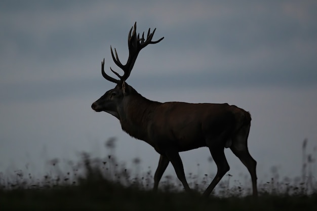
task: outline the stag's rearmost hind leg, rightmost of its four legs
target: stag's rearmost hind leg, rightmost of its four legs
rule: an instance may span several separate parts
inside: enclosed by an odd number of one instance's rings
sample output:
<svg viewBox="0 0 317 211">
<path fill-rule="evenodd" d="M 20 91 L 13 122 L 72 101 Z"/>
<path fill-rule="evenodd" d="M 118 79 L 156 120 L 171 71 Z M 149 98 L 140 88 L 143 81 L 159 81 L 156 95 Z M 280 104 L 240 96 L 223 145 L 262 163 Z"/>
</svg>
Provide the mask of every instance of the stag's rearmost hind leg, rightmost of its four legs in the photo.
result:
<svg viewBox="0 0 317 211">
<path fill-rule="evenodd" d="M 250 131 L 250 124 L 243 126 L 236 135 L 232 138 L 231 151 L 242 161 L 248 168 L 252 180 L 253 195 L 257 196 L 257 176 L 256 176 L 256 161 L 250 155 L 248 150 L 248 136 Z"/>
</svg>

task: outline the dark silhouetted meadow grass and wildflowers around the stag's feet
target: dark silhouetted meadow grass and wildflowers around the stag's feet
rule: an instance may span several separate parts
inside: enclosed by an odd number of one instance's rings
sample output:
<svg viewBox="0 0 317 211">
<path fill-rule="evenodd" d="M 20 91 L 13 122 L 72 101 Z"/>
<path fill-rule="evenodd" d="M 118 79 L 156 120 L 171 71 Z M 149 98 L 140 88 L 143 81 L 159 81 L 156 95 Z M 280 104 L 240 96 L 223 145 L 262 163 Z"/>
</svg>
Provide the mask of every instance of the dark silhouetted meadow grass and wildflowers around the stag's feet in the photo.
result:
<svg viewBox="0 0 317 211">
<path fill-rule="evenodd" d="M 109 149 L 115 146 L 111 142 L 106 144 Z M 242 185 L 230 187 L 230 175 L 222 179 L 209 198 L 201 197 L 210 183 L 207 175 L 201 182 L 194 175 L 187 177 L 194 187 L 190 194 L 183 191 L 177 178 L 170 176 L 154 193 L 150 169 L 132 177 L 113 155 L 100 159 L 82 153 L 77 163 L 68 162 L 66 172 L 60 169 L 58 159 L 50 160 L 52 171 L 40 179 L 22 171 L 0 174 L 0 210 L 317 210 L 317 183 L 311 174 L 314 160 L 306 154 L 306 144 L 304 140 L 302 177 L 279 181 L 273 175 L 269 182 L 258 185 L 257 198 Z M 137 167 L 140 160 L 133 162 Z"/>
</svg>

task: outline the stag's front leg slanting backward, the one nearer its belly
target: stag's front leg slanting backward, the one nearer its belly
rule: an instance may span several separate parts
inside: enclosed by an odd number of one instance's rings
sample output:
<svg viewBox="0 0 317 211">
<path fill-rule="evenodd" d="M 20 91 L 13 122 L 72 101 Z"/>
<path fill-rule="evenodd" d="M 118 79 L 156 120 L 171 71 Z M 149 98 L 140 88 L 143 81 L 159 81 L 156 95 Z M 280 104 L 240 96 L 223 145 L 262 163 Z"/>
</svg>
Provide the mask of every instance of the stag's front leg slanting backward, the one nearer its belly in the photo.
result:
<svg viewBox="0 0 317 211">
<path fill-rule="evenodd" d="M 179 156 L 179 153 L 177 151 L 168 151 L 166 152 L 166 156 L 171 161 L 176 172 L 177 178 L 182 182 L 185 190 L 190 191 L 190 188 L 185 178 L 183 162 Z"/>
</svg>

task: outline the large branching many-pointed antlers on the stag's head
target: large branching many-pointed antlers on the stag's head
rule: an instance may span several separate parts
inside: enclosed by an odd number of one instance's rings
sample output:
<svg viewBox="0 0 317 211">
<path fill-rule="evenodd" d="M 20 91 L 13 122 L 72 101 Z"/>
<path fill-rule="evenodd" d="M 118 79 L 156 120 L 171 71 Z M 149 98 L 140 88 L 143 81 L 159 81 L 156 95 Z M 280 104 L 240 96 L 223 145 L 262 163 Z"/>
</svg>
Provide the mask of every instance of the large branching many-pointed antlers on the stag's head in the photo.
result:
<svg viewBox="0 0 317 211">
<path fill-rule="evenodd" d="M 117 54 L 115 48 L 114 48 L 114 53 L 115 53 L 115 57 L 114 57 L 112 47 L 110 46 L 112 59 L 113 59 L 114 63 L 124 71 L 124 74 L 121 76 L 117 72 L 113 71 L 111 67 L 110 67 L 110 70 L 116 76 L 118 76 L 120 78 L 120 80 L 117 80 L 117 79 L 109 76 L 107 73 L 105 73 L 105 71 L 104 71 L 104 59 L 103 59 L 103 62 L 101 62 L 102 76 L 111 82 L 117 83 L 117 85 L 122 85 L 122 83 L 125 80 L 127 80 L 127 78 L 130 76 L 131 70 L 134 66 L 134 63 L 135 63 L 137 57 L 138 57 L 138 54 L 140 53 L 140 51 L 144 47 L 146 47 L 149 44 L 159 43 L 162 39 L 164 39 L 164 37 L 162 37 L 161 39 L 159 39 L 157 41 L 152 41 L 152 38 L 153 38 L 153 35 L 154 35 L 156 28 L 153 30 L 152 33 L 150 33 L 150 28 L 148 29 L 146 39 L 144 39 L 144 32 L 142 34 L 142 37 L 140 38 L 140 34 L 139 33 L 138 33 L 138 35 L 136 34 L 137 22 L 135 22 L 135 24 L 134 24 L 133 32 L 132 32 L 132 29 L 133 29 L 133 27 L 130 29 L 129 36 L 128 36 L 129 58 L 128 58 L 128 61 L 125 65 L 123 65 L 121 63 L 121 61 L 119 60 L 119 57 L 118 57 L 118 54 Z M 132 32 L 132 34 L 131 34 L 131 32 Z"/>
</svg>

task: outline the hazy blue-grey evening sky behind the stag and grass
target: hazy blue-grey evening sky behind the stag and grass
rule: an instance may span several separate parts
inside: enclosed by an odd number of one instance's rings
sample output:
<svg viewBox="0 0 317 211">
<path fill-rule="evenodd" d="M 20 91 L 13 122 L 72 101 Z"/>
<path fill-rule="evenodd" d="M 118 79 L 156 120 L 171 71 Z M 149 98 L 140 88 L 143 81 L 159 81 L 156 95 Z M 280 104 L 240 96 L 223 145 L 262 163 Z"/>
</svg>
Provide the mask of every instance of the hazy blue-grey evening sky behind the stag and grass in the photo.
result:
<svg viewBox="0 0 317 211">
<path fill-rule="evenodd" d="M 143 49 L 127 80 L 160 102 L 229 103 L 252 115 L 249 151 L 259 181 L 301 176 L 302 144 L 317 159 L 316 1 L 1 1 L 0 172 L 41 172 L 48 160 L 86 151 L 155 171 L 159 154 L 91 104 L 114 84 L 127 37 L 156 28 L 159 44 Z M 118 71 L 120 72 L 120 71 Z M 111 73 L 109 73 L 111 74 Z M 249 174 L 225 150 L 230 175 Z M 207 148 L 180 153 L 186 174 L 216 173 Z M 199 164 L 199 165 L 197 165 Z M 317 175 L 316 162 L 312 172 Z M 171 165 L 164 175 L 175 176 Z"/>
</svg>

